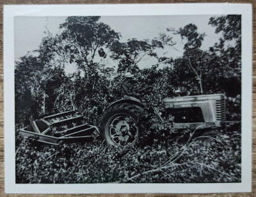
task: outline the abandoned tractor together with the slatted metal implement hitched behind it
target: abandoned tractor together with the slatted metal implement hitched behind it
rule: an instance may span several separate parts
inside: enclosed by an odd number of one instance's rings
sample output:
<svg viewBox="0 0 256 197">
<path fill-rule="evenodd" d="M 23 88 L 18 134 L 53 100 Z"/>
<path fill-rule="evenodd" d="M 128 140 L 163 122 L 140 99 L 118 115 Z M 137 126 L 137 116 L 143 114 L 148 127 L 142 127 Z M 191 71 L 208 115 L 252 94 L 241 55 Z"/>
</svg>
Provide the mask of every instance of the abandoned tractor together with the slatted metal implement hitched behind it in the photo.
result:
<svg viewBox="0 0 256 197">
<path fill-rule="evenodd" d="M 68 111 L 32 121 L 19 132 L 26 138 L 58 145 L 61 141 L 90 141 L 101 134 L 108 145 L 133 146 L 143 132 L 152 127 L 169 132 L 185 129 L 221 129 L 225 124 L 223 94 L 150 99 L 151 88 L 140 90 L 140 98 L 124 95 L 110 104 L 97 126 L 84 121 L 83 115 Z"/>
</svg>

